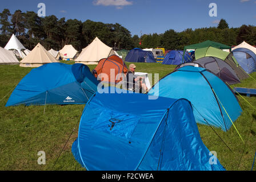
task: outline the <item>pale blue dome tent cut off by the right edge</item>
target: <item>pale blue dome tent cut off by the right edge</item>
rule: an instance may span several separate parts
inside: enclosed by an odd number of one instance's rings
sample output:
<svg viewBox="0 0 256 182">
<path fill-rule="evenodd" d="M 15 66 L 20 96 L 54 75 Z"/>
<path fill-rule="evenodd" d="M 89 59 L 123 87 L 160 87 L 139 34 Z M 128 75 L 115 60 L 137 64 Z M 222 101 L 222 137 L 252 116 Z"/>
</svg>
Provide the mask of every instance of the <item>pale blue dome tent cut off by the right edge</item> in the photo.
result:
<svg viewBox="0 0 256 182">
<path fill-rule="evenodd" d="M 237 48 L 232 52 L 238 64 L 246 73 L 250 74 L 256 71 L 256 55 L 253 51 L 247 48 Z"/>
</svg>

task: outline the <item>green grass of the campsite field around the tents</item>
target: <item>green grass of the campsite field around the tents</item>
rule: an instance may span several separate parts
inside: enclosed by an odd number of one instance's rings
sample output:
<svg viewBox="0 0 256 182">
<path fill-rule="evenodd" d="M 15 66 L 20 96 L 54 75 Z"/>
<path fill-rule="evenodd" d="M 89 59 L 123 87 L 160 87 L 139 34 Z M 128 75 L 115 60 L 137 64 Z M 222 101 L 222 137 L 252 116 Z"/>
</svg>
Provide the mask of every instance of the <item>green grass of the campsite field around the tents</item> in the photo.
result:
<svg viewBox="0 0 256 182">
<path fill-rule="evenodd" d="M 63 63 L 74 62 L 63 61 Z M 174 65 L 157 63 L 136 65 L 136 71 L 159 73 L 160 78 L 175 68 Z M 94 67 L 95 65 L 89 65 L 90 69 Z M 31 68 L 21 68 L 19 65 L 0 65 L 0 170 L 85 170 L 71 153 L 71 145 L 78 134 L 77 123 L 85 105 L 5 107 L 12 90 L 30 71 Z M 251 76 L 256 78 L 256 72 Z M 232 86 L 256 88 L 256 81 L 247 78 L 240 84 Z M 243 113 L 235 121 L 235 126 L 244 142 L 239 138 L 234 127 L 227 132 L 214 129 L 231 151 L 209 126 L 198 125 L 203 143 L 210 151 L 216 151 L 222 166 L 231 171 L 251 170 L 256 150 L 256 110 L 243 100 L 245 98 L 256 107 L 256 97 L 238 96 L 238 98 Z M 74 132 L 67 142 L 73 129 Z M 66 147 L 63 149 L 65 144 Z M 38 165 L 38 151 L 45 151 L 46 165 Z"/>
</svg>

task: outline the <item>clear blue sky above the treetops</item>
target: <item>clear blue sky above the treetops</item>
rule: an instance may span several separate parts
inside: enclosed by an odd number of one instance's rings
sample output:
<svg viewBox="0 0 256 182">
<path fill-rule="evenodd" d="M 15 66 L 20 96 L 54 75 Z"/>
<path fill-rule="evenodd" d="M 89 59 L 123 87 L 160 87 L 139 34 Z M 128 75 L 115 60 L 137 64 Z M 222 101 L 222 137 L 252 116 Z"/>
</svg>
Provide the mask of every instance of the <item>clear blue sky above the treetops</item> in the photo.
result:
<svg viewBox="0 0 256 182">
<path fill-rule="evenodd" d="M 38 3 L 45 3 L 46 16 L 87 19 L 103 23 L 119 23 L 132 35 L 164 33 L 174 29 L 217 26 L 226 19 L 230 27 L 242 24 L 256 26 L 256 0 L 12 0 L 1 1 L 0 11 L 7 8 L 37 11 Z M 217 17 L 209 16 L 210 3 L 217 4 Z"/>
</svg>

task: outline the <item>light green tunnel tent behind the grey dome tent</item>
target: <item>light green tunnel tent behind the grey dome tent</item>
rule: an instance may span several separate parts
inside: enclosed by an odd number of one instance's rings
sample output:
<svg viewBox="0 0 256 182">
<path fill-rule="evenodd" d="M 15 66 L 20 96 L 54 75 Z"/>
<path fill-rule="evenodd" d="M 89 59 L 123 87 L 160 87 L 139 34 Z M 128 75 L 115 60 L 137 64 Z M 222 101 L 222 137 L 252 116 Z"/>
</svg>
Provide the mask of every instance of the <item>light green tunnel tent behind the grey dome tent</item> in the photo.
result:
<svg viewBox="0 0 256 182">
<path fill-rule="evenodd" d="M 247 73 L 243 71 L 243 68 L 238 64 L 232 52 L 229 53 L 214 47 L 195 49 L 195 60 L 201 59 L 202 57 L 217 57 L 229 64 L 230 67 L 234 69 L 235 73 L 237 73 L 239 79 L 242 80 L 248 77 Z"/>
</svg>

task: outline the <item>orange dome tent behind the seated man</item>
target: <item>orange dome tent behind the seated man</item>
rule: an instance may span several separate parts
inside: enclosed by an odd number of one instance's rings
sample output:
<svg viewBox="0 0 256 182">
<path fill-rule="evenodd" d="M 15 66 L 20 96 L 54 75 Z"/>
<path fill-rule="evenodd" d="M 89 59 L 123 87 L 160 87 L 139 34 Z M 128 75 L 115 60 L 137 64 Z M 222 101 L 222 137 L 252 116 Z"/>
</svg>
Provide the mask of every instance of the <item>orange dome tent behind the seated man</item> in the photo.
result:
<svg viewBox="0 0 256 182">
<path fill-rule="evenodd" d="M 102 82 L 117 84 L 122 81 L 128 69 L 125 62 L 117 55 L 111 55 L 99 60 L 97 67 L 92 71 L 93 75 L 101 78 Z M 123 74 L 123 75 L 122 75 Z"/>
</svg>

